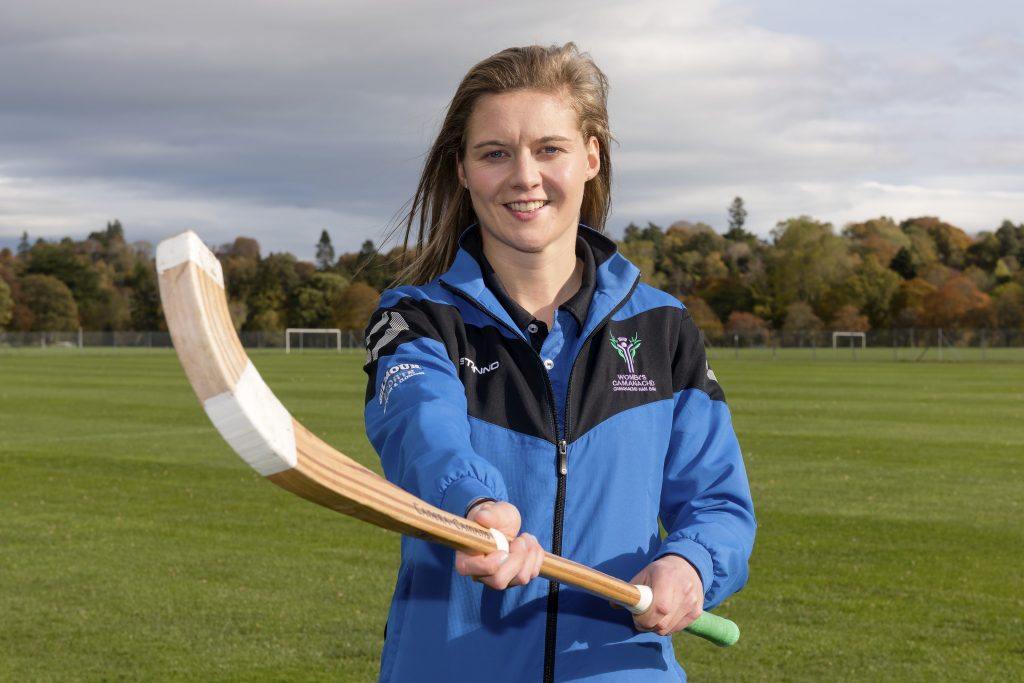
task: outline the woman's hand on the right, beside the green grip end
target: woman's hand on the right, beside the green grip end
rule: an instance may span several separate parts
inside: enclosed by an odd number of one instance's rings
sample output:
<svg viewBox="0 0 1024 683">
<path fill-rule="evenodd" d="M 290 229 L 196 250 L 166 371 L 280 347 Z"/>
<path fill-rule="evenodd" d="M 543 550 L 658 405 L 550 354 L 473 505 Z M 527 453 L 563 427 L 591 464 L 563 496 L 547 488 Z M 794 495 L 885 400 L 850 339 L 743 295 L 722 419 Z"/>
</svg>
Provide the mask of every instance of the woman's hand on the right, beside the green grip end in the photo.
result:
<svg viewBox="0 0 1024 683">
<path fill-rule="evenodd" d="M 657 558 L 630 583 L 649 586 L 654 594 L 650 608 L 633 615 L 638 631 L 669 636 L 688 627 L 703 611 L 700 574 L 679 555 Z"/>
</svg>

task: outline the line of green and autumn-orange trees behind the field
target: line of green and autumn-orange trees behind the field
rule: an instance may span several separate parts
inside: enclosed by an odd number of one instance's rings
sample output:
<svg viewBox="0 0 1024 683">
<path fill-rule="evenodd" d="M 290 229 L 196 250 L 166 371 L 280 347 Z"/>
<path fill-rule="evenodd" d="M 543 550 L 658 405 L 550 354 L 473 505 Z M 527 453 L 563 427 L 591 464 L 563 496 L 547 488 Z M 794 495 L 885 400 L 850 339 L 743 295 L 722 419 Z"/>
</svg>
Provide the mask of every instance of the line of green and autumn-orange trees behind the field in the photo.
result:
<svg viewBox="0 0 1024 683">
<path fill-rule="evenodd" d="M 618 241 L 643 280 L 680 298 L 710 338 L 810 337 L 821 330 L 1024 329 L 1024 223 L 971 236 L 936 217 L 881 217 L 841 230 L 808 216 L 768 239 L 745 229 L 736 198 L 729 227 L 631 223 Z M 166 329 L 148 243 L 120 221 L 82 241 L 0 251 L 0 330 Z M 400 270 L 400 248 L 367 241 L 336 256 L 327 230 L 315 262 L 261 254 L 251 238 L 215 249 L 240 331 L 361 330 Z"/>
</svg>

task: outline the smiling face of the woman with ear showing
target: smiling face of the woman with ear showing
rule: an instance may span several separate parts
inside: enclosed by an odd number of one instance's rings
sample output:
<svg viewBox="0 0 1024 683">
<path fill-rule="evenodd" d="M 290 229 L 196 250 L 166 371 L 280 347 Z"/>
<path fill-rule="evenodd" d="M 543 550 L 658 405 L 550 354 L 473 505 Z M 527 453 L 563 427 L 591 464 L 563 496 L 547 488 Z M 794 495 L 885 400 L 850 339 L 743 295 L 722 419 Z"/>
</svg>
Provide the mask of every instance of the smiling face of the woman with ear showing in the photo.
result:
<svg viewBox="0 0 1024 683">
<path fill-rule="evenodd" d="M 574 254 L 584 185 L 601 163 L 568 101 L 537 90 L 485 95 L 466 132 L 459 180 L 488 255 Z"/>
</svg>

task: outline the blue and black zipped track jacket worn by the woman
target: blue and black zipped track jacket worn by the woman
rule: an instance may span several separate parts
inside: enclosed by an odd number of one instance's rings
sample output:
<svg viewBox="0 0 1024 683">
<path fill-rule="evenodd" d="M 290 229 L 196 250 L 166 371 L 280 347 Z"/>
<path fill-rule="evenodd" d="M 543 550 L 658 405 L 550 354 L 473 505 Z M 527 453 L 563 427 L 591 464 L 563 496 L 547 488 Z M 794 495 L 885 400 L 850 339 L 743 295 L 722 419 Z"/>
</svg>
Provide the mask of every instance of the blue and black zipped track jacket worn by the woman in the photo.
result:
<svg viewBox="0 0 1024 683">
<path fill-rule="evenodd" d="M 368 435 L 409 492 L 457 515 L 509 501 L 546 550 L 611 575 L 686 558 L 712 608 L 744 584 L 755 531 L 724 395 L 679 301 L 607 238 L 579 236 L 584 287 L 546 335 L 496 291 L 476 227 L 447 272 L 385 292 L 367 328 Z M 625 609 L 543 579 L 486 589 L 452 550 L 403 537 L 380 679 L 685 675 L 672 639 Z"/>
</svg>

